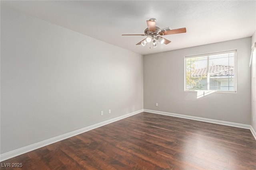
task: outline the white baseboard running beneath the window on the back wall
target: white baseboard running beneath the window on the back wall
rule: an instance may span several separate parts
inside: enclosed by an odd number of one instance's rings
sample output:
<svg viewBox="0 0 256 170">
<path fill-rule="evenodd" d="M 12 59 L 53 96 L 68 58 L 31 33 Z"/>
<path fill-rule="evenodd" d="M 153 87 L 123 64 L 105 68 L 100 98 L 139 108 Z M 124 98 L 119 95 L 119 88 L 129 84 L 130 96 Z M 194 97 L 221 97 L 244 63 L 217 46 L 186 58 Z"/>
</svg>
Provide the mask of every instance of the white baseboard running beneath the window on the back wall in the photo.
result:
<svg viewBox="0 0 256 170">
<path fill-rule="evenodd" d="M 169 112 L 149 110 L 149 109 L 144 109 L 144 111 L 149 112 L 149 113 L 156 113 L 156 114 L 161 114 L 161 115 L 168 115 L 168 116 L 174 116 L 174 117 L 181 117 L 181 118 L 185 118 L 185 119 L 192 119 L 192 120 L 197 120 L 197 121 L 216 123 L 216 124 L 220 124 L 220 125 L 228 125 L 228 126 L 240 127 L 240 128 L 244 128 L 244 129 L 251 129 L 251 125 L 245 125 L 245 124 L 241 124 L 241 123 L 233 123 L 233 122 L 228 122 L 228 121 L 207 119 L 207 118 L 202 118 L 202 117 L 181 115 L 181 114 L 176 114 L 176 113 L 169 113 Z"/>
</svg>

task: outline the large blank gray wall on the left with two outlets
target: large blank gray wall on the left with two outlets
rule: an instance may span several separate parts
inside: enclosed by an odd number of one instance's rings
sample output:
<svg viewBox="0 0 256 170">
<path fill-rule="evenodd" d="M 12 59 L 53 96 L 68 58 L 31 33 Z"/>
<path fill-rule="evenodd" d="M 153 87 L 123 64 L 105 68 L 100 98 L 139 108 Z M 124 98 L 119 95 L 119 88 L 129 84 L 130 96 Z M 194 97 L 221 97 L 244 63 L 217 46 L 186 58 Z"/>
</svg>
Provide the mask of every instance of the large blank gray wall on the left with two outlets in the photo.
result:
<svg viewBox="0 0 256 170">
<path fill-rule="evenodd" d="M 1 6 L 1 154 L 140 109 L 142 55 Z"/>
</svg>

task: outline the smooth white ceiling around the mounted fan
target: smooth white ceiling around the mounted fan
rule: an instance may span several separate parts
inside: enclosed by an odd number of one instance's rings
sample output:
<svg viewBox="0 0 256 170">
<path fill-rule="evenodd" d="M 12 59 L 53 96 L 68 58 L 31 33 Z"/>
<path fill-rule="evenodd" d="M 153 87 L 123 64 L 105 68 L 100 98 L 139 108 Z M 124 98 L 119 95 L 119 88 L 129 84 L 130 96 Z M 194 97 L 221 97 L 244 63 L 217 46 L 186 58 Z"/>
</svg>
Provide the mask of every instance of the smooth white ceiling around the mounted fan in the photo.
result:
<svg viewBox="0 0 256 170">
<path fill-rule="evenodd" d="M 256 30 L 256 1 L 2 1 L 30 16 L 146 55 L 220 41 L 250 37 Z M 135 45 L 144 37 L 146 20 L 156 18 L 160 28 L 186 27 L 187 32 L 166 35 L 172 43 L 156 48 Z"/>
</svg>

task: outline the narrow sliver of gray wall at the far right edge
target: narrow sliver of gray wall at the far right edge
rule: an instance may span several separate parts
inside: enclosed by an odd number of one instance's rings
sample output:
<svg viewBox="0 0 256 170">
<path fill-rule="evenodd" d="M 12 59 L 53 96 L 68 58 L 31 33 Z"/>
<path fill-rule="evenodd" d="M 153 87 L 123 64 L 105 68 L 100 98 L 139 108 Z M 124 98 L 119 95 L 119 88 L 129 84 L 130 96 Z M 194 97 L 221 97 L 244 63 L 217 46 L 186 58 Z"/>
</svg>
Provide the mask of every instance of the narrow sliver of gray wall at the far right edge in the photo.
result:
<svg viewBox="0 0 256 170">
<path fill-rule="evenodd" d="M 253 44 L 255 42 L 256 42 L 256 31 L 252 35 L 252 43 L 251 44 Z M 254 117 L 254 121 L 253 121 L 253 117 Z M 252 116 L 251 116 L 251 125 L 252 125 L 254 131 L 256 131 L 256 77 L 252 77 Z"/>
</svg>

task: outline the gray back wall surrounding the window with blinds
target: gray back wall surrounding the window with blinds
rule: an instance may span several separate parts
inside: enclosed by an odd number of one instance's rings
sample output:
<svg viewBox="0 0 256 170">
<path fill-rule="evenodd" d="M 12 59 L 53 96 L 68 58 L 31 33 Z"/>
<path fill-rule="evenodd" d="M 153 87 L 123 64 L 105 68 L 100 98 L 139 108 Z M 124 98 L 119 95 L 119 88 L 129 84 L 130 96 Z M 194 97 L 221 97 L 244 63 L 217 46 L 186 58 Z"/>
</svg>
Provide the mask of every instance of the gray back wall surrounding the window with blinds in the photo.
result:
<svg viewBox="0 0 256 170">
<path fill-rule="evenodd" d="M 215 92 L 197 98 L 197 92 L 184 91 L 184 56 L 234 49 L 237 49 L 237 93 Z M 144 109 L 250 125 L 250 55 L 251 37 L 145 55 Z"/>
</svg>

